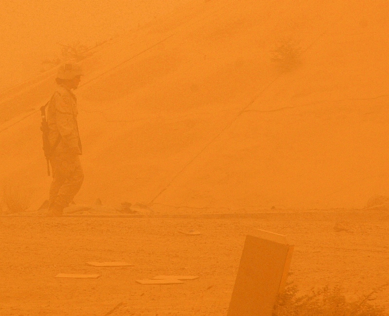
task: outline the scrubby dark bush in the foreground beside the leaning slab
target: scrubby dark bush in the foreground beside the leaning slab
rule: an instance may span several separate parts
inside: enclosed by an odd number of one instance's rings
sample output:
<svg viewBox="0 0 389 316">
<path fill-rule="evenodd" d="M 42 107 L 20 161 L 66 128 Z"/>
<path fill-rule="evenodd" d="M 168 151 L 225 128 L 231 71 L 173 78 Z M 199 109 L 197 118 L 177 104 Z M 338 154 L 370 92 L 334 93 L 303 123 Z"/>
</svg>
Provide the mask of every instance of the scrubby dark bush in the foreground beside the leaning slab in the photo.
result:
<svg viewBox="0 0 389 316">
<path fill-rule="evenodd" d="M 387 316 L 385 309 L 370 303 L 373 295 L 382 289 L 348 301 L 343 288 L 339 286 L 325 286 L 302 296 L 298 295 L 296 286 L 288 286 L 277 299 L 273 316 Z"/>
</svg>

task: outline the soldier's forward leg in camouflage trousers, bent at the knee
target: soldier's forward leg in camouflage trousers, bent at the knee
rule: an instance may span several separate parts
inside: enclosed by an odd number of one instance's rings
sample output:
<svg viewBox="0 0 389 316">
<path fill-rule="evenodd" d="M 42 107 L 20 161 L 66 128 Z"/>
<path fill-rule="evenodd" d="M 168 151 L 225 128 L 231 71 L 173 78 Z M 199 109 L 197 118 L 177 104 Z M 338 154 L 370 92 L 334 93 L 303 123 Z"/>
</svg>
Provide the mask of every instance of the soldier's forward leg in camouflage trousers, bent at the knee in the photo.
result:
<svg viewBox="0 0 389 316">
<path fill-rule="evenodd" d="M 66 172 L 66 180 L 60 187 L 54 203 L 65 208 L 80 190 L 84 181 L 84 172 L 78 155 L 67 156 L 62 162 L 62 167 Z"/>
</svg>

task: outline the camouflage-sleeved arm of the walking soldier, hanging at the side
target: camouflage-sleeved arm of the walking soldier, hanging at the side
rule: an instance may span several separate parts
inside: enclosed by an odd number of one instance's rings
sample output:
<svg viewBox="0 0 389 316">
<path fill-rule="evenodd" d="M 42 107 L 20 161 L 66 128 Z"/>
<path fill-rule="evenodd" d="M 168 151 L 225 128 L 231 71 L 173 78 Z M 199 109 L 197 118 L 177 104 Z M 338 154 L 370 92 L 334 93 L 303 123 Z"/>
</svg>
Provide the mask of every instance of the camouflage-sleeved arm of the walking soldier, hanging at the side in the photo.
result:
<svg viewBox="0 0 389 316">
<path fill-rule="evenodd" d="M 78 148 L 78 132 L 72 112 L 70 97 L 66 94 L 55 96 L 55 123 L 62 140 L 69 148 Z"/>
</svg>

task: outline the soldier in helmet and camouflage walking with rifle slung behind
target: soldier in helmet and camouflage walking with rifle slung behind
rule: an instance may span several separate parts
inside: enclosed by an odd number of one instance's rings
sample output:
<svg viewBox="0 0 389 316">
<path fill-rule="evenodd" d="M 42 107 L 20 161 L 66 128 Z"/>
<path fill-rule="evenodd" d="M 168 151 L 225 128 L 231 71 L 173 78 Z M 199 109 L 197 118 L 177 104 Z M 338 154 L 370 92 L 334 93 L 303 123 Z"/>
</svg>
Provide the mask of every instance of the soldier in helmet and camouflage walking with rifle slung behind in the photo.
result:
<svg viewBox="0 0 389 316">
<path fill-rule="evenodd" d="M 47 124 L 51 146 L 50 163 L 53 182 L 50 187 L 48 216 L 61 216 L 81 188 L 84 173 L 77 125 L 76 89 L 83 75 L 77 64 L 65 64 L 58 69 L 58 86 L 47 106 Z"/>
</svg>

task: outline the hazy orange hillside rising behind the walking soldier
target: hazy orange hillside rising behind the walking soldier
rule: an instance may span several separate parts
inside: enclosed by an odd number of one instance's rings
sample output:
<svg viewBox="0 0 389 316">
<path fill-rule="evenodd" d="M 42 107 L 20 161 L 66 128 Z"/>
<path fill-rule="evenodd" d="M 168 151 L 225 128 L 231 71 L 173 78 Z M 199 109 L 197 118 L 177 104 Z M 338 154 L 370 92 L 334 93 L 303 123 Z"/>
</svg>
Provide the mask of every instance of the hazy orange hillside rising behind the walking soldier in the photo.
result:
<svg viewBox="0 0 389 316">
<path fill-rule="evenodd" d="M 106 45 L 76 91 L 76 202 L 246 212 L 361 208 L 386 194 L 388 9 L 193 1 Z M 49 79 L 29 108 L 50 98 Z M 31 91 L 11 100 L 30 104 Z M 39 113 L 27 114 L 0 127 L 0 178 L 31 192 L 33 209 L 50 178 Z"/>
</svg>

